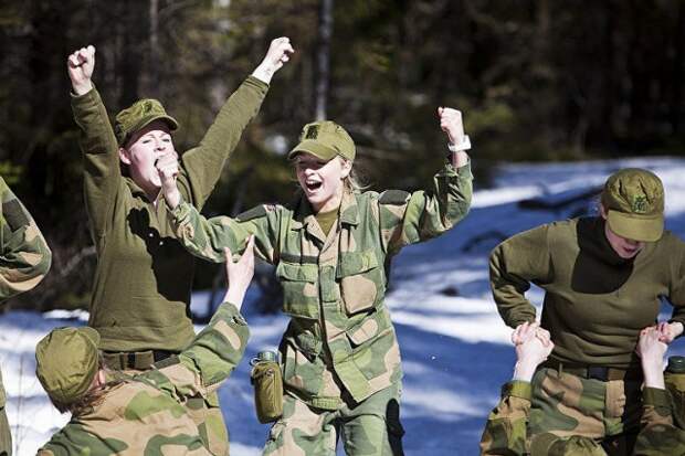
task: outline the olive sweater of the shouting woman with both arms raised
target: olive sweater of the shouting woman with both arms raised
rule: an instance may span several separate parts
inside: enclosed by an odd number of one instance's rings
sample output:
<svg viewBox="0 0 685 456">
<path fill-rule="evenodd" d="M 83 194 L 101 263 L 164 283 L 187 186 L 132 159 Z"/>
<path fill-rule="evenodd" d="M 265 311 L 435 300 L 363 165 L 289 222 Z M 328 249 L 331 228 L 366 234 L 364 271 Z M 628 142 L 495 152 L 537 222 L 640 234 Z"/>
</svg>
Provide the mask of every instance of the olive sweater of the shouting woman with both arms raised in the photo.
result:
<svg viewBox="0 0 685 456">
<path fill-rule="evenodd" d="M 250 76 L 226 100 L 200 145 L 180 160 L 178 187 L 200 209 L 268 86 Z M 103 350 L 180 351 L 193 337 L 190 289 L 192 255 L 179 244 L 161 197 L 148 201 L 123 177 L 107 112 L 93 89 L 72 98 L 81 128 L 89 229 L 97 251 L 88 325 Z"/>
</svg>

